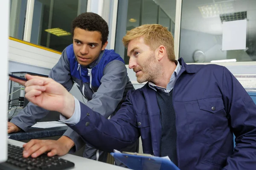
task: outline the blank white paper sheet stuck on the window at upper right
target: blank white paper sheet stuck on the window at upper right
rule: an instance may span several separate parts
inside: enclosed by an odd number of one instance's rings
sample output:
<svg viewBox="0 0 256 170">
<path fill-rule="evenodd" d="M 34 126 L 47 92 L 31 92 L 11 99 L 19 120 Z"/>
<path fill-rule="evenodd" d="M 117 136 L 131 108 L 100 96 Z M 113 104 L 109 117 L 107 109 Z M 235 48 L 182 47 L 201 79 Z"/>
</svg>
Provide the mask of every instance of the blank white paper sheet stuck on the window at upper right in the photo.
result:
<svg viewBox="0 0 256 170">
<path fill-rule="evenodd" d="M 222 24 L 222 50 L 246 49 L 247 20 L 227 21 Z"/>
</svg>

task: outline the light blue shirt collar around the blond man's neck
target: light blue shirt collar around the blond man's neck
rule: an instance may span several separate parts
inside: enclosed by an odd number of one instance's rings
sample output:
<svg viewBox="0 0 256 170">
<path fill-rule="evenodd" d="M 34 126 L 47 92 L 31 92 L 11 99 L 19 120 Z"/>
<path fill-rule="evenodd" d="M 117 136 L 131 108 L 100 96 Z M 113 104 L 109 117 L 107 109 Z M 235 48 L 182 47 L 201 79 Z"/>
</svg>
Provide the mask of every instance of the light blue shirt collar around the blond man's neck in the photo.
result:
<svg viewBox="0 0 256 170">
<path fill-rule="evenodd" d="M 169 94 L 169 93 L 172 91 L 173 87 L 174 87 L 174 82 L 175 82 L 175 79 L 177 78 L 177 75 L 178 75 L 179 72 L 180 72 L 180 69 L 181 69 L 181 65 L 180 65 L 180 63 L 178 62 L 178 63 L 177 63 L 177 67 L 175 68 L 175 71 L 172 73 L 172 76 L 171 76 L 170 81 L 169 81 L 169 83 L 167 84 L 167 87 L 166 87 L 166 88 L 157 86 L 157 85 L 155 85 L 153 82 L 148 82 L 149 87 L 152 88 L 152 89 L 154 89 L 155 91 L 160 90 L 160 91 L 162 91 L 162 92 L 164 92 L 164 93 Z"/>
</svg>

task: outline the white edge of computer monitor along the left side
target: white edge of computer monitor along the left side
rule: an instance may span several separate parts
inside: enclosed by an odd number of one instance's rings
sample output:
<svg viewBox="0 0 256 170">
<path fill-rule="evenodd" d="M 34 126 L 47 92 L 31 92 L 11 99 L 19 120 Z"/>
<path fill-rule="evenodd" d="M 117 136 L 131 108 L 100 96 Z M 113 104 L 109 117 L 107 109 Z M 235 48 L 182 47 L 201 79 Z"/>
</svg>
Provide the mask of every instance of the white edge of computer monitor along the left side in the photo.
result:
<svg viewBox="0 0 256 170">
<path fill-rule="evenodd" d="M 7 160 L 9 3 L 9 0 L 3 0 L 0 5 L 0 162 Z"/>
</svg>

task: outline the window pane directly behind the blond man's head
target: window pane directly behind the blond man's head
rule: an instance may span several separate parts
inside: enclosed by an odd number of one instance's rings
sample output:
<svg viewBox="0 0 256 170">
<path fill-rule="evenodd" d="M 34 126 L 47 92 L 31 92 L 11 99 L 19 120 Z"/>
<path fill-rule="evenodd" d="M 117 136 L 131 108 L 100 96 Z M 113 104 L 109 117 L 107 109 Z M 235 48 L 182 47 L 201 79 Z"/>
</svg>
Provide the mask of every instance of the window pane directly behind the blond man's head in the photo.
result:
<svg viewBox="0 0 256 170">
<path fill-rule="evenodd" d="M 126 31 L 143 24 L 161 24 L 174 34 L 176 0 L 122 0 L 118 3 L 115 51 L 128 64 L 127 49 L 122 45 Z M 126 31 L 124 30 L 126 29 Z"/>
</svg>

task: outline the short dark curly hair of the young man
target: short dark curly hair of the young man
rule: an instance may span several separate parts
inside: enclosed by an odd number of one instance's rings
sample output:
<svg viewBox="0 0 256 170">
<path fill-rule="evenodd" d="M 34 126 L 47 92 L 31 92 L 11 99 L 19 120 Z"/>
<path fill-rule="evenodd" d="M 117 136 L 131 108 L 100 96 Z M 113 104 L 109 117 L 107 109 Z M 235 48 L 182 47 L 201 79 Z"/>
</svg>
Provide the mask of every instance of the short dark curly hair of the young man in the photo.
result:
<svg viewBox="0 0 256 170">
<path fill-rule="evenodd" d="M 72 35 L 75 28 L 81 28 L 86 31 L 99 31 L 102 34 L 102 45 L 108 41 L 108 23 L 98 14 L 93 12 L 84 12 L 72 21 Z"/>
</svg>

